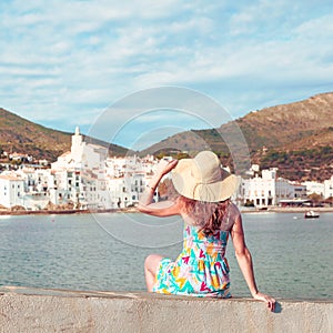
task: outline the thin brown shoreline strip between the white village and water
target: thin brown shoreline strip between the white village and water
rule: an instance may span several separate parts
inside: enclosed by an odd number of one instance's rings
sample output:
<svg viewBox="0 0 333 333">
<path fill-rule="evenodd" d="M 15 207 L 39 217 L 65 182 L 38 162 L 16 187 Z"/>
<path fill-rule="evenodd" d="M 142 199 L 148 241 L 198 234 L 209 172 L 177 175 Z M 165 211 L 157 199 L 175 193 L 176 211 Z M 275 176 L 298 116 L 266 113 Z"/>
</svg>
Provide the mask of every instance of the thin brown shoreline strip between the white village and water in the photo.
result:
<svg viewBox="0 0 333 333">
<path fill-rule="evenodd" d="M 269 208 L 266 210 L 260 209 L 240 209 L 242 214 L 248 213 L 305 213 L 309 210 L 319 213 L 333 213 L 333 206 L 319 206 L 319 208 Z M 39 211 L 10 211 L 0 210 L 0 216 L 4 215 L 60 215 L 60 214 L 103 214 L 103 213 L 139 213 L 135 208 L 125 209 L 109 209 L 109 210 L 39 210 Z"/>
</svg>

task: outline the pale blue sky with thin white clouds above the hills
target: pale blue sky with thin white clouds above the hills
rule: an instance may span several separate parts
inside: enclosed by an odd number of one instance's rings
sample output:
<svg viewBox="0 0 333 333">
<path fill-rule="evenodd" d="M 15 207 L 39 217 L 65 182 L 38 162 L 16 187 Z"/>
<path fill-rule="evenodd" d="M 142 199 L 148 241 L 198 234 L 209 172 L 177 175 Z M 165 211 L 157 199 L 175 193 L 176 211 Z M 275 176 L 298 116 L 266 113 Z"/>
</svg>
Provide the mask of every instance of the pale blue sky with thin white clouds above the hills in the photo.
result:
<svg viewBox="0 0 333 333">
<path fill-rule="evenodd" d="M 333 91 L 332 41 L 329 0 L 1 0 L 0 107 L 142 149 Z"/>
</svg>

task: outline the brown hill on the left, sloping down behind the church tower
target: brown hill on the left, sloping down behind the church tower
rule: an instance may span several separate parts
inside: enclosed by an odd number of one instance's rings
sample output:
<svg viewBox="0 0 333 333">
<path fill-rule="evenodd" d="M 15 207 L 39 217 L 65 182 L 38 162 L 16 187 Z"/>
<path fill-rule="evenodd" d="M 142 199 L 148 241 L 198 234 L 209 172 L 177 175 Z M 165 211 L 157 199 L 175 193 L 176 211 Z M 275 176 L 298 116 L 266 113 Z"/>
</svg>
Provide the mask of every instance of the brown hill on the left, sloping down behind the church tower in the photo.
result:
<svg viewBox="0 0 333 333">
<path fill-rule="evenodd" d="M 0 108 L 0 152 L 19 152 L 50 162 L 70 150 L 72 133 L 52 130 Z M 89 138 L 90 142 L 109 147 L 111 154 L 124 155 L 127 149 Z"/>
</svg>

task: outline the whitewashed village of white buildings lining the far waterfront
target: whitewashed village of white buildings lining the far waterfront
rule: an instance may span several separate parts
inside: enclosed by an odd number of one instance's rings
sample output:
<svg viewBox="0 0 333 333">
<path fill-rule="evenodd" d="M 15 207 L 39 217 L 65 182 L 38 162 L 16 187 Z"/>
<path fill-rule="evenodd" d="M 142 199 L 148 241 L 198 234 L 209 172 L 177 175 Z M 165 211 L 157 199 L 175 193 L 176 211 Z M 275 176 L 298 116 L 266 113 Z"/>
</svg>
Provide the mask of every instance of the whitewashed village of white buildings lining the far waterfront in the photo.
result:
<svg viewBox="0 0 333 333">
<path fill-rule="evenodd" d="M 19 158 L 13 155 L 12 158 Z M 168 158 L 167 158 L 168 159 Z M 118 210 L 134 208 L 159 160 L 108 155 L 108 148 L 84 142 L 79 128 L 71 150 L 46 168 L 22 164 L 0 173 L 0 210 Z M 333 175 L 323 183 L 295 183 L 278 176 L 278 169 L 252 165 L 233 200 L 239 206 L 270 209 L 309 205 L 309 195 L 333 198 Z M 155 193 L 155 200 L 160 193 Z"/>
</svg>

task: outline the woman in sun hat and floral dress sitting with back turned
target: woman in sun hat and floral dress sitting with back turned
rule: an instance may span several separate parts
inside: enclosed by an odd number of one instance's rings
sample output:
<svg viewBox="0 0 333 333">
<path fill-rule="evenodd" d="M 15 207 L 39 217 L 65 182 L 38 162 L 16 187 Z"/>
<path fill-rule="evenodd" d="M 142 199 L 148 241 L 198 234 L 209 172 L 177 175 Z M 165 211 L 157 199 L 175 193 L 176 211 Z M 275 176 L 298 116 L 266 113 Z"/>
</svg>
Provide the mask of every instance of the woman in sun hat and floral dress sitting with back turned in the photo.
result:
<svg viewBox="0 0 333 333">
<path fill-rule="evenodd" d="M 159 182 L 171 170 L 172 183 L 180 195 L 174 201 L 153 203 Z M 230 234 L 252 296 L 264 301 L 274 311 L 275 300 L 256 287 L 242 218 L 230 200 L 240 185 L 240 178 L 225 173 L 211 151 L 202 151 L 194 159 L 160 163 L 138 208 L 154 216 L 181 215 L 185 225 L 184 242 L 183 251 L 174 262 L 159 254 L 145 259 L 148 291 L 231 297 L 229 265 L 224 256 Z"/>
</svg>

